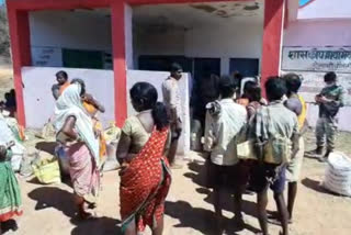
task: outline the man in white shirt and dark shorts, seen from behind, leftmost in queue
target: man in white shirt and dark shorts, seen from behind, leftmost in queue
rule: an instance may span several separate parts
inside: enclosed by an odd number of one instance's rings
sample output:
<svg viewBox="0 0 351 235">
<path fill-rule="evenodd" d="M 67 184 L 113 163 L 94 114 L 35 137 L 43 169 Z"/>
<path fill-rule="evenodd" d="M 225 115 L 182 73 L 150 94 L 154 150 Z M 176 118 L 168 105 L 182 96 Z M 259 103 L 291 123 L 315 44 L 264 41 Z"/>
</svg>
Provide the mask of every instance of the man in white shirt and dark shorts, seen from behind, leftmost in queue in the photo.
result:
<svg viewBox="0 0 351 235">
<path fill-rule="evenodd" d="M 233 100 L 236 87 L 230 77 L 219 79 L 220 100 L 207 104 L 205 125 L 205 150 L 208 159 L 208 187 L 214 189 L 216 233 L 222 234 L 222 193 L 235 193 L 235 222 L 244 226 L 241 197 L 248 181 L 237 157 L 237 138 L 247 124 L 246 109 Z"/>
</svg>

